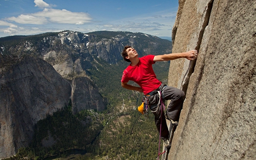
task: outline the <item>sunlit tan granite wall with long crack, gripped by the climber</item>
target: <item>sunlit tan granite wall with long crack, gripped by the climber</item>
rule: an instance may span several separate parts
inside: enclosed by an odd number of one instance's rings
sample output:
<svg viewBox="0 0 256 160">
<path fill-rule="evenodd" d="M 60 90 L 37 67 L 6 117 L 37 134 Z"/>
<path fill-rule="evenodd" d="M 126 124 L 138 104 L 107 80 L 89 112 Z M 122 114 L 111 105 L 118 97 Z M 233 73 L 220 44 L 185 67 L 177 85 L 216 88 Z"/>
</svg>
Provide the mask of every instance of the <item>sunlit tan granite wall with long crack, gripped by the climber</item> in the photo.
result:
<svg viewBox="0 0 256 160">
<path fill-rule="evenodd" d="M 256 1 L 180 0 L 168 84 L 186 92 L 166 159 L 256 159 Z"/>
</svg>

